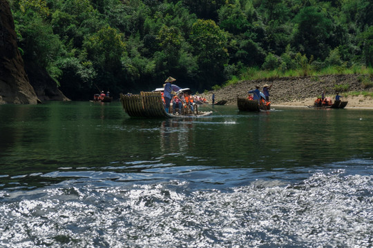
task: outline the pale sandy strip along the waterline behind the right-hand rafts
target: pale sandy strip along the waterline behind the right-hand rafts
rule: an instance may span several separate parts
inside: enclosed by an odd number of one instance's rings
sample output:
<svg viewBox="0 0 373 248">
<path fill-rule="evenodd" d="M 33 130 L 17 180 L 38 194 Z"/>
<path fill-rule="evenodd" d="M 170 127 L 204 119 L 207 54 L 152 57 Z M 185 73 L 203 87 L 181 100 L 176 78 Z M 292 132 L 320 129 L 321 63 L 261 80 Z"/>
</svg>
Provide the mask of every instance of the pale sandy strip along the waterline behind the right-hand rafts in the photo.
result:
<svg viewBox="0 0 373 248">
<path fill-rule="evenodd" d="M 329 96 L 327 96 L 329 97 Z M 334 97 L 330 96 L 332 98 L 332 101 L 334 101 Z M 302 101 L 300 100 L 294 100 L 289 102 L 280 102 L 280 103 L 272 103 L 272 106 L 294 106 L 294 107 L 305 107 L 309 105 L 314 105 L 314 101 L 316 98 L 309 98 L 304 99 Z M 359 107 L 359 108 L 372 108 L 373 109 L 373 99 L 369 96 L 347 96 L 343 97 L 342 101 L 348 101 L 348 104 L 346 108 L 353 108 L 353 107 Z"/>
</svg>

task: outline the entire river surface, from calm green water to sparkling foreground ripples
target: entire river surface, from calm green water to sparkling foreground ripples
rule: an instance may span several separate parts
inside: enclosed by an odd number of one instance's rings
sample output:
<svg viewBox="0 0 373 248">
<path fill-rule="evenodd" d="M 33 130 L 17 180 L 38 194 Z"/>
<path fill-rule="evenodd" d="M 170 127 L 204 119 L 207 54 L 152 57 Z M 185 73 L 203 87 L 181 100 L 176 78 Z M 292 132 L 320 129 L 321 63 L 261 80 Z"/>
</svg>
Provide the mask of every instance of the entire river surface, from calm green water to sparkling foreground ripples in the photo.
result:
<svg viewBox="0 0 373 248">
<path fill-rule="evenodd" d="M 0 247 L 372 247 L 373 110 L 0 105 Z"/>
</svg>

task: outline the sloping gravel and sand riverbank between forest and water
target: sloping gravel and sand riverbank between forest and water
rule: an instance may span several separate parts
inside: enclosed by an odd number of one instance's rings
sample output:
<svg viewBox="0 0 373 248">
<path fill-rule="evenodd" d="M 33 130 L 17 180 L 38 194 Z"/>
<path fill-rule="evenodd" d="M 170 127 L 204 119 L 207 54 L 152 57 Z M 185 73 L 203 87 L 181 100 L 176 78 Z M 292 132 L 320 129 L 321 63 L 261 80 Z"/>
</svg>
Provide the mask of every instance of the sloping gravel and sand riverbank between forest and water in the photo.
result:
<svg viewBox="0 0 373 248">
<path fill-rule="evenodd" d="M 234 85 L 228 85 L 219 90 L 213 90 L 204 94 L 204 97 L 211 103 L 211 96 L 214 93 L 216 102 L 227 100 L 227 105 L 236 105 L 238 97 L 247 97 L 247 92 L 255 89 L 256 85 L 272 85 L 270 89 L 271 105 L 287 106 L 308 106 L 314 105 L 314 101 L 325 91 L 325 96 L 331 97 L 334 101 L 336 91 L 342 87 L 347 87 L 347 92 L 372 91 L 363 88 L 361 75 L 327 75 L 327 76 L 304 76 L 287 77 L 279 79 L 259 79 L 251 81 L 241 81 Z M 370 96 L 347 96 L 346 92 L 341 92 L 343 101 L 348 101 L 347 107 L 372 107 L 373 99 Z"/>
</svg>

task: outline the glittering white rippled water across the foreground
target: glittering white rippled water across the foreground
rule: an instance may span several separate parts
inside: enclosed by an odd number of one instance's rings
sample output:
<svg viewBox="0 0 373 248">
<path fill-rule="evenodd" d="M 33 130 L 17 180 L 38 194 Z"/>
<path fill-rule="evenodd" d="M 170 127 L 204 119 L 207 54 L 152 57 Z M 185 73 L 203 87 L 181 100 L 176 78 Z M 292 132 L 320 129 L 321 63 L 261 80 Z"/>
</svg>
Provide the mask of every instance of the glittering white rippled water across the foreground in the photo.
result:
<svg viewBox="0 0 373 248">
<path fill-rule="evenodd" d="M 373 176 L 296 184 L 66 181 L 0 192 L 0 247 L 372 247 Z"/>
</svg>

